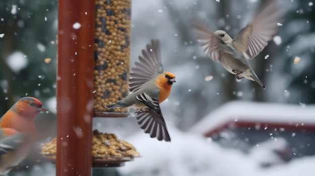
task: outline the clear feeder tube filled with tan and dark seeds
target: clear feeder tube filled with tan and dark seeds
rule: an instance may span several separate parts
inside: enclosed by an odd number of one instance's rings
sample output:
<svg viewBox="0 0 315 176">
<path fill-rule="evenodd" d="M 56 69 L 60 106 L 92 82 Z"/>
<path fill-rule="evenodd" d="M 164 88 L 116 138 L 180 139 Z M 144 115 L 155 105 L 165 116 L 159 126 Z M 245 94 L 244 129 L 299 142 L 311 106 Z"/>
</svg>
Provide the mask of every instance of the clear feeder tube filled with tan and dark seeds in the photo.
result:
<svg viewBox="0 0 315 176">
<path fill-rule="evenodd" d="M 131 0 L 97 0 L 94 115 L 126 117 L 128 109 L 107 109 L 129 94 Z"/>
</svg>

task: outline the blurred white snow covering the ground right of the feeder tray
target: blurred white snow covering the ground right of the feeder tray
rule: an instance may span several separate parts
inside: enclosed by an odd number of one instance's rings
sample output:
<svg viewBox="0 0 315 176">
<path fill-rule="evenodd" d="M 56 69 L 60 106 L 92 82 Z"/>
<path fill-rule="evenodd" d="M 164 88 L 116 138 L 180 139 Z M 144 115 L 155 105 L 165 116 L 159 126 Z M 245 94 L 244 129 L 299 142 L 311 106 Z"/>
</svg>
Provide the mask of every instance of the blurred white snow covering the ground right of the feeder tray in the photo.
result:
<svg viewBox="0 0 315 176">
<path fill-rule="evenodd" d="M 141 157 L 126 162 L 118 168 L 121 175 L 313 175 L 315 157 L 293 159 L 288 163 L 275 154 L 275 150 L 286 147 L 286 141 L 279 138 L 259 143 L 249 153 L 237 149 L 226 149 L 216 142 L 200 136 L 182 132 L 168 124 L 171 142 L 150 138 L 142 131 L 127 139 Z M 211 139 L 211 138 L 210 138 Z M 264 163 L 273 164 L 262 167 Z M 289 170 L 289 171 L 288 171 Z"/>
</svg>

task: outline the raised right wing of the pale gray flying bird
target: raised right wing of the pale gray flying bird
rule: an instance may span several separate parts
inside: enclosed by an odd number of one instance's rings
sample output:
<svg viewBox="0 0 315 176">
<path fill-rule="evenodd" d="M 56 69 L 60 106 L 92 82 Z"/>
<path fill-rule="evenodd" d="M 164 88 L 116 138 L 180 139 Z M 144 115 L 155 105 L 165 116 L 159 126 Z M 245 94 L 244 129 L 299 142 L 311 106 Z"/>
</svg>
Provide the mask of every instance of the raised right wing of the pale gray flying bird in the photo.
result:
<svg viewBox="0 0 315 176">
<path fill-rule="evenodd" d="M 268 44 L 278 31 L 277 23 L 282 22 L 283 12 L 277 1 L 266 0 L 260 7 L 252 23 L 243 28 L 233 39 L 235 49 L 247 54 L 246 59 L 253 59 Z"/>
</svg>

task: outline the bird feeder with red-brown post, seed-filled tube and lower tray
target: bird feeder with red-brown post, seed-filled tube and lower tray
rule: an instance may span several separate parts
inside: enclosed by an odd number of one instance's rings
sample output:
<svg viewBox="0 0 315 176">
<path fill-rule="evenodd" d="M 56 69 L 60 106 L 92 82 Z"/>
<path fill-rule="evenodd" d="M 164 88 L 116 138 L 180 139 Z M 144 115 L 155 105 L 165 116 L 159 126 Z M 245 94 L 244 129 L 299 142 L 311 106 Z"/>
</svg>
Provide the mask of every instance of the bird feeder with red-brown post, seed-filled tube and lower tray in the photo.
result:
<svg viewBox="0 0 315 176">
<path fill-rule="evenodd" d="M 56 175 L 121 166 L 92 155 L 93 117 L 126 117 L 105 105 L 128 95 L 131 0 L 59 1 Z M 93 140 L 94 141 L 94 140 Z M 130 160 L 132 160 L 131 158 Z"/>
</svg>

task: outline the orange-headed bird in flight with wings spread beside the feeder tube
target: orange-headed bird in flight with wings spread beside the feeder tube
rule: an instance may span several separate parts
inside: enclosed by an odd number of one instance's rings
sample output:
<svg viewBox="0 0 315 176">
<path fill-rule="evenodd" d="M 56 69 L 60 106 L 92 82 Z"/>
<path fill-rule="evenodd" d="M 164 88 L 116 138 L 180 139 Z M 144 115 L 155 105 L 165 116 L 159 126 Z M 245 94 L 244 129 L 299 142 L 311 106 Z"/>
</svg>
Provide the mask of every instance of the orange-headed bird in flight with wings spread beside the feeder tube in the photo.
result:
<svg viewBox="0 0 315 176">
<path fill-rule="evenodd" d="M 171 72 L 163 72 L 159 40 L 151 40 L 142 50 L 139 62 L 131 68 L 129 87 L 132 92 L 124 99 L 105 106 L 106 108 L 135 108 L 138 124 L 150 137 L 171 141 L 160 108 L 166 100 L 175 81 Z"/>
</svg>

